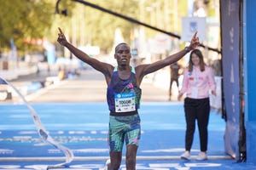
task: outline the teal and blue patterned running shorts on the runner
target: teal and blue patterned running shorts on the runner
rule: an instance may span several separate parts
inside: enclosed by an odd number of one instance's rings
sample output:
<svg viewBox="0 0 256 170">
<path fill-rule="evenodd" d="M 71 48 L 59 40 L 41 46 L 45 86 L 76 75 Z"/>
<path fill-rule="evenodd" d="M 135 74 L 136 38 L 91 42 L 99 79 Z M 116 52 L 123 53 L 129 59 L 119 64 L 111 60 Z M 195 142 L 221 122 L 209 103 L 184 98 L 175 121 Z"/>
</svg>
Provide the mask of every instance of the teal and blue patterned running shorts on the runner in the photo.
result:
<svg viewBox="0 0 256 170">
<path fill-rule="evenodd" d="M 141 138 L 141 119 L 139 115 L 109 116 L 108 144 L 110 151 L 122 151 L 126 145 L 138 145 Z"/>
</svg>

